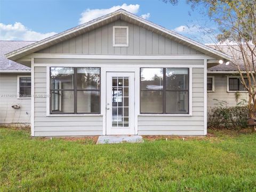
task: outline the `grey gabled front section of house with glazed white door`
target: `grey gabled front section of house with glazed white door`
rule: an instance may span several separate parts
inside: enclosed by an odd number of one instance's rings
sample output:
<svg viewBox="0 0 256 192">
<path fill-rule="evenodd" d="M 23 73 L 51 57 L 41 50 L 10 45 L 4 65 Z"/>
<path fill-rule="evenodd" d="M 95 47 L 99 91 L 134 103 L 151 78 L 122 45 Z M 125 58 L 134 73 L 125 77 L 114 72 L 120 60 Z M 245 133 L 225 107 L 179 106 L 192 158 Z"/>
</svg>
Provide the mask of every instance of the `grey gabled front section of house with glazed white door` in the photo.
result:
<svg viewBox="0 0 256 192">
<path fill-rule="evenodd" d="M 124 10 L 6 57 L 31 67 L 33 136 L 205 135 L 207 68 L 231 59 Z"/>
</svg>

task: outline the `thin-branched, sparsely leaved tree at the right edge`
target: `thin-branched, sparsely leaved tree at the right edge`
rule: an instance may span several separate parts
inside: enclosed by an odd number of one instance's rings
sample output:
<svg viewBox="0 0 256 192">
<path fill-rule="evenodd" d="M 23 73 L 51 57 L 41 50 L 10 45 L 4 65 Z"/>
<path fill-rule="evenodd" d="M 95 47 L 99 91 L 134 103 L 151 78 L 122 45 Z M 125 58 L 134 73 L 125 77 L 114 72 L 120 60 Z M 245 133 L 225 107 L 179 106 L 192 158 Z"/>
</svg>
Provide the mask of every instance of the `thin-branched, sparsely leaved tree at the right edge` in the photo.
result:
<svg viewBox="0 0 256 192">
<path fill-rule="evenodd" d="M 177 5 L 178 1 L 164 1 Z M 231 64 L 239 72 L 242 84 L 249 93 L 249 117 L 256 117 L 256 1 L 255 0 L 187 0 L 193 10 L 202 6 L 210 20 L 217 23 L 218 44 L 226 44 L 233 57 Z M 241 58 L 239 58 L 241 57 Z M 242 61 L 242 62 L 241 62 Z M 241 65 L 242 63 L 242 65 Z M 248 79 L 248 83 L 245 78 Z M 256 131 L 255 127 L 253 131 Z"/>
</svg>

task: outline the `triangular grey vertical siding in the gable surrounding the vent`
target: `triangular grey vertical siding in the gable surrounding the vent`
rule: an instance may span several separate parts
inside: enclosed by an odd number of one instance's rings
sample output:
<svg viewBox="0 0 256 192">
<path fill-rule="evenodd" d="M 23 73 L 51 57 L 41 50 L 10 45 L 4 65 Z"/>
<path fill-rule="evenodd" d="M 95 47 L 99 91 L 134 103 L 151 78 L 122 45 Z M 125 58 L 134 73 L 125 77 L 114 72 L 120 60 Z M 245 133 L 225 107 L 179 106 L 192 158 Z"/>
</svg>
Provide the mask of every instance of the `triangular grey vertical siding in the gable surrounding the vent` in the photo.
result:
<svg viewBox="0 0 256 192">
<path fill-rule="evenodd" d="M 129 27 L 129 46 L 113 46 L 113 26 Z M 126 21 L 108 25 L 47 47 L 38 53 L 123 54 L 123 55 L 193 55 L 203 54 L 188 46 Z"/>
</svg>

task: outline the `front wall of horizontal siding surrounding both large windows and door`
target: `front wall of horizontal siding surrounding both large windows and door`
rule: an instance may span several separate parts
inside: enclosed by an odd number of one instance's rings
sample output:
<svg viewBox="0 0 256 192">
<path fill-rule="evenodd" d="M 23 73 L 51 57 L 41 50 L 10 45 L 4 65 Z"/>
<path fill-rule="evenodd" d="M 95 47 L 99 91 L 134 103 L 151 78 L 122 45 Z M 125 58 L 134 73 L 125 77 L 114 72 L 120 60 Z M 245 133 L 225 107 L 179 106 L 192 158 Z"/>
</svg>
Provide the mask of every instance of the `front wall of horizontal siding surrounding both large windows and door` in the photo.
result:
<svg viewBox="0 0 256 192">
<path fill-rule="evenodd" d="M 71 64 L 70 64 L 71 63 Z M 204 135 L 204 60 L 97 60 L 97 59 L 35 59 L 35 94 L 46 95 L 46 66 L 116 67 L 136 68 L 186 65 L 192 71 L 192 115 L 191 116 L 138 116 L 138 134 L 149 135 Z M 196 65 L 197 68 L 193 68 Z M 199 67 L 198 66 L 202 66 Z M 135 79 L 139 76 L 135 76 Z M 101 79 L 101 84 L 105 79 Z M 101 90 L 103 86 L 101 86 Z M 139 86 L 135 86 L 135 94 Z M 105 98 L 106 93 L 101 92 Z M 35 136 L 102 135 L 103 115 L 90 116 L 46 116 L 45 97 L 35 98 Z M 102 100 L 101 100 L 102 101 Z M 50 105 L 50 104 L 49 104 Z M 104 105 L 103 103 L 101 105 Z M 105 106 L 105 105 L 104 105 Z M 102 107 L 101 107 L 102 114 Z M 136 118 L 135 118 L 136 119 Z M 136 124 L 136 122 L 135 122 Z"/>
</svg>

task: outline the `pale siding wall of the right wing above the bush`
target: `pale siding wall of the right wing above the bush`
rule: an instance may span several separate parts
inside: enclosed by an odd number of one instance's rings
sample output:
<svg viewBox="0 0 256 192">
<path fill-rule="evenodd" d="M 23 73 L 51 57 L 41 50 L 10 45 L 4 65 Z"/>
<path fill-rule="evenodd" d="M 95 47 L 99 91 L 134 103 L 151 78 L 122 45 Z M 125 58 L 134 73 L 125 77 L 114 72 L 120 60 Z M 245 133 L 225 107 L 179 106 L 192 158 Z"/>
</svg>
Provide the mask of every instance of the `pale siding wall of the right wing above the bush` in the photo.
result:
<svg viewBox="0 0 256 192">
<path fill-rule="evenodd" d="M 218 99 L 219 101 L 226 101 L 228 106 L 236 106 L 237 103 L 241 102 L 242 99 L 248 99 L 248 93 L 241 92 L 241 96 L 236 101 L 236 95 L 234 92 L 227 92 L 227 76 L 230 74 L 210 74 L 209 76 L 214 76 L 214 92 L 207 92 L 207 108 L 216 107 L 218 101 L 213 99 Z"/>
</svg>

